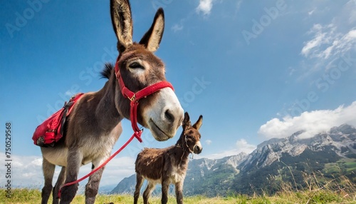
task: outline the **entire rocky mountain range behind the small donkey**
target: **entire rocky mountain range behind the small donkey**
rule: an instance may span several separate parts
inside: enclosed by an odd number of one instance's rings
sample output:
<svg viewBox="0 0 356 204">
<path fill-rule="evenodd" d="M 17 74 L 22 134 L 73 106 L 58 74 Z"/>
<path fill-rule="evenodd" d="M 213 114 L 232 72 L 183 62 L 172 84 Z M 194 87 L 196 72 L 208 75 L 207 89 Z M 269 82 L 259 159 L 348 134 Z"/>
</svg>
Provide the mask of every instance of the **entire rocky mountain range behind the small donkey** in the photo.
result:
<svg viewBox="0 0 356 204">
<path fill-rule="evenodd" d="M 264 141 L 248 155 L 190 160 L 184 195 L 276 193 L 283 182 L 301 189 L 306 187 L 308 175 L 320 178 L 321 184 L 325 178 L 340 175 L 356 183 L 356 128 L 343 124 L 311 138 L 301 137 L 303 133 Z M 135 183 L 132 175 L 111 193 L 133 194 Z M 159 189 L 157 185 L 155 193 Z M 174 188 L 170 191 L 173 193 Z"/>
</svg>

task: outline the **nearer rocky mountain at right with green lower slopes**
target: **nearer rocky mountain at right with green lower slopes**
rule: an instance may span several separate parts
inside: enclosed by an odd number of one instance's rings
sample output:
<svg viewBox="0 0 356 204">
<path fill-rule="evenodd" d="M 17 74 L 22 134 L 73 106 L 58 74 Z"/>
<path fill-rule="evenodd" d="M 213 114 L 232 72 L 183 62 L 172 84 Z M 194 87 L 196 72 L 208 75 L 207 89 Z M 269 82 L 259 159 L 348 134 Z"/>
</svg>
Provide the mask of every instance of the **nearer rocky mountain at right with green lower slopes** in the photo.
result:
<svg viewBox="0 0 356 204">
<path fill-rule="evenodd" d="M 356 183 L 353 171 L 356 128 L 344 124 L 312 138 L 300 138 L 302 133 L 298 131 L 288 138 L 273 139 L 258 146 L 239 165 L 240 173 L 232 181 L 231 189 L 246 194 L 276 193 L 282 181 L 301 189 L 306 187 L 308 175 L 315 176 L 320 183 L 323 176 L 345 175 Z"/>
</svg>

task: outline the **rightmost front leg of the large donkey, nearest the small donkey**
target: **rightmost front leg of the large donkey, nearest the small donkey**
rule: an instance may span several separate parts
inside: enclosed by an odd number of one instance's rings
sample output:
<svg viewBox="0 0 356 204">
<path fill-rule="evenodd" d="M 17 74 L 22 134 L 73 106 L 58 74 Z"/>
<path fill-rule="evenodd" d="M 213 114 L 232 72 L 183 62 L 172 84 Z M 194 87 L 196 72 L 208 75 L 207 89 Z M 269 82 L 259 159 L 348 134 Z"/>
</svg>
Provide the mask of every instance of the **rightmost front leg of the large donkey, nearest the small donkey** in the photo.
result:
<svg viewBox="0 0 356 204">
<path fill-rule="evenodd" d="M 102 164 L 109 156 L 110 155 L 108 155 L 105 158 L 100 158 L 100 160 L 93 160 L 92 170 L 94 168 L 97 168 L 100 164 Z M 100 179 L 101 179 L 101 175 L 103 175 L 104 168 L 105 166 L 103 168 L 100 168 L 97 172 L 90 175 L 88 183 L 87 185 L 85 185 L 85 204 L 95 202 L 95 197 L 98 194 Z"/>
</svg>

